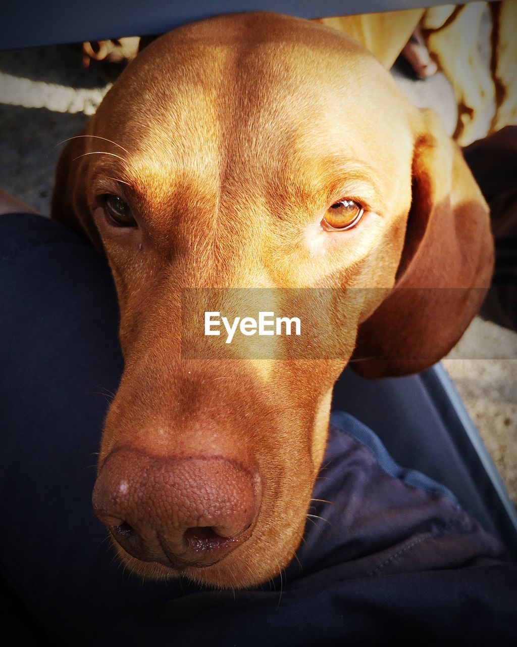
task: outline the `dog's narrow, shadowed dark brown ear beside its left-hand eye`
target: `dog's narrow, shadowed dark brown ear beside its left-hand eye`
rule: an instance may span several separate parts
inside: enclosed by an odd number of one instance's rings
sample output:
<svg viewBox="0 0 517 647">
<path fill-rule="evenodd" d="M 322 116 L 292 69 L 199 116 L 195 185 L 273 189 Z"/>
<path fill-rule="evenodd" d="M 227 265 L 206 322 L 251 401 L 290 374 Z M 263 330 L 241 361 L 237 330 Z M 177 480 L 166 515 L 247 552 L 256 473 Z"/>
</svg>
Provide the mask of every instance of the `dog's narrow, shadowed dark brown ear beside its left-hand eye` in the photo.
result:
<svg viewBox="0 0 517 647">
<path fill-rule="evenodd" d="M 87 139 L 85 131 L 77 137 L 72 137 L 59 155 L 50 215 L 52 219 L 67 225 L 78 234 L 87 236 L 94 246 L 102 251 L 101 238 L 87 203 Z"/>
</svg>

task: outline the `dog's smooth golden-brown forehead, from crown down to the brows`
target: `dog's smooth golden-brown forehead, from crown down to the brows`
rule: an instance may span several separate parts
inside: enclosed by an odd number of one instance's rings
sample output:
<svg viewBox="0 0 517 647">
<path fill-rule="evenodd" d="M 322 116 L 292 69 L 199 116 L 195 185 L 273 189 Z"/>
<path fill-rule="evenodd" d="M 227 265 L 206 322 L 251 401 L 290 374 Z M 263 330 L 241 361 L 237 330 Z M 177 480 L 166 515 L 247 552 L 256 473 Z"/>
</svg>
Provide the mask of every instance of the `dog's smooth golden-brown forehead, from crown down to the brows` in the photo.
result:
<svg viewBox="0 0 517 647">
<path fill-rule="evenodd" d="M 410 140 L 406 104 L 378 61 L 340 32 L 243 14 L 151 43 L 107 94 L 94 132 L 124 146 L 125 179 L 158 202 L 180 185 L 207 195 L 250 177 L 259 189 L 274 176 L 285 186 L 321 175 L 332 156 L 375 156 L 388 168 Z"/>
</svg>

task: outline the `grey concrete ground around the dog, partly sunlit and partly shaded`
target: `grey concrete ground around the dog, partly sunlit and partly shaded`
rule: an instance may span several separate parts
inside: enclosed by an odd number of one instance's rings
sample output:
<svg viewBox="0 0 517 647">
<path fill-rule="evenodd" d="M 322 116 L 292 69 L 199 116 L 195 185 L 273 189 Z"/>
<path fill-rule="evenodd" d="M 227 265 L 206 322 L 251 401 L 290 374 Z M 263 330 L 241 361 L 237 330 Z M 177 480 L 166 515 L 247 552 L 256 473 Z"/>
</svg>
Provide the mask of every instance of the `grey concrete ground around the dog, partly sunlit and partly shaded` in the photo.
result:
<svg viewBox="0 0 517 647">
<path fill-rule="evenodd" d="M 98 63 L 83 69 L 79 48 L 70 46 L 0 52 L 0 187 L 48 214 L 60 142 L 78 134 L 117 73 Z M 454 97 L 441 74 L 415 81 L 399 68 L 394 75 L 454 131 Z M 517 503 L 517 335 L 474 320 L 443 364 Z"/>
</svg>

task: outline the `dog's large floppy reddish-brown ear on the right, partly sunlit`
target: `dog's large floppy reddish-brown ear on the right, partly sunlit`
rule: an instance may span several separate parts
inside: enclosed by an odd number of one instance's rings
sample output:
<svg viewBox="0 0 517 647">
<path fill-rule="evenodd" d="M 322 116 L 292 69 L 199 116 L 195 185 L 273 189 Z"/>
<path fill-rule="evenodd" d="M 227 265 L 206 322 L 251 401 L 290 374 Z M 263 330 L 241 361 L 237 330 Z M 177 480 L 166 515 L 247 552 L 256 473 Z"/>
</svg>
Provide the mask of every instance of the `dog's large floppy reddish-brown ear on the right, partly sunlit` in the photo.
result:
<svg viewBox="0 0 517 647">
<path fill-rule="evenodd" d="M 364 377 L 416 373 L 447 355 L 492 276 L 489 208 L 438 116 L 423 111 L 423 121 L 396 284 L 359 326 L 352 366 Z"/>
</svg>

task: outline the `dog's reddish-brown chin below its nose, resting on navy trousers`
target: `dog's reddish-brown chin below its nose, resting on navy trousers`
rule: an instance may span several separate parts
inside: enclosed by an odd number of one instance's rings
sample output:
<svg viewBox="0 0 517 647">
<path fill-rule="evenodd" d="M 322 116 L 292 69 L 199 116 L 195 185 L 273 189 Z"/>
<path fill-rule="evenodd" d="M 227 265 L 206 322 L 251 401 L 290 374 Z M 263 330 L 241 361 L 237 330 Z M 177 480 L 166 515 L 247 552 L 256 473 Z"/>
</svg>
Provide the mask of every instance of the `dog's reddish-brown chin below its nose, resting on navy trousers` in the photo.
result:
<svg viewBox="0 0 517 647">
<path fill-rule="evenodd" d="M 242 545 L 219 562 L 201 567 L 173 568 L 158 562 L 142 562 L 127 553 L 114 540 L 112 540 L 112 544 L 124 567 L 142 580 L 163 582 L 164 580 L 184 578 L 187 582 L 216 589 L 244 589 L 260 586 L 260 584 L 272 580 L 290 564 L 301 542 L 303 525 L 302 523 L 301 529 L 296 532 L 290 542 L 291 547 L 282 551 L 282 554 L 270 556 L 265 560 L 264 550 L 259 546 L 253 550 Z"/>
</svg>

